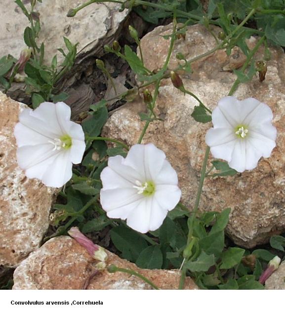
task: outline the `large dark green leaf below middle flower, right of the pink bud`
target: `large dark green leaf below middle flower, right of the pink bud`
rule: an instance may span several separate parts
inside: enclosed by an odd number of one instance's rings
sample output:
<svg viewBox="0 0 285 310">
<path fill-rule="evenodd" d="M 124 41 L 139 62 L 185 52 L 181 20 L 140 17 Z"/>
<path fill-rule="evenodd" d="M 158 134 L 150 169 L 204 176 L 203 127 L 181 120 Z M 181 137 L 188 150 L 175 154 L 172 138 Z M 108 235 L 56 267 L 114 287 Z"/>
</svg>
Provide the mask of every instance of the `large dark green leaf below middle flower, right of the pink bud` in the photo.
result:
<svg viewBox="0 0 285 310">
<path fill-rule="evenodd" d="M 128 261 L 135 262 L 142 250 L 148 247 L 143 237 L 124 226 L 113 228 L 110 235 L 116 248 L 122 252 L 122 257 Z"/>
</svg>

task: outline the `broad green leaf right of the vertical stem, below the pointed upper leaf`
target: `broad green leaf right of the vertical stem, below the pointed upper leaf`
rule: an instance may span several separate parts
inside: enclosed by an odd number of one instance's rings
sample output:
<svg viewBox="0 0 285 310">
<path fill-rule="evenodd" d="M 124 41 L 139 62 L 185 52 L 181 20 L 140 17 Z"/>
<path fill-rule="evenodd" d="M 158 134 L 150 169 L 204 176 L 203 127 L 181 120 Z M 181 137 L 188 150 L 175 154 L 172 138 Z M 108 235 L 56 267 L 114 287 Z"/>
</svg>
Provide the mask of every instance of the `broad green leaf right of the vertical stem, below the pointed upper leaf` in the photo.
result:
<svg viewBox="0 0 285 310">
<path fill-rule="evenodd" d="M 208 255 L 214 254 L 215 257 L 219 257 L 224 249 L 225 235 L 223 231 L 212 233 L 202 239 L 200 239 L 200 247 Z"/>
</svg>

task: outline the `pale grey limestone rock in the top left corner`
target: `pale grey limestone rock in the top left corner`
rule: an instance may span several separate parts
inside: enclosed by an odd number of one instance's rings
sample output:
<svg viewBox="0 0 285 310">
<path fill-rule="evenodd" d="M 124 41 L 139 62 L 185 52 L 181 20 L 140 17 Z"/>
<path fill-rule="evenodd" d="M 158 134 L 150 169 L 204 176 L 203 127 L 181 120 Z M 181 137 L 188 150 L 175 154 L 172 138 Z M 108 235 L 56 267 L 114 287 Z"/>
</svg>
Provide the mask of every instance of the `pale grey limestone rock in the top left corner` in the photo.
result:
<svg viewBox="0 0 285 310">
<path fill-rule="evenodd" d="M 78 7 L 81 2 L 79 0 L 37 2 L 35 11 L 40 13 L 41 21 L 39 42 L 44 42 L 47 64 L 50 64 L 54 54 L 60 55 L 57 48 L 65 48 L 63 37 L 74 44 L 79 42 L 79 60 L 90 54 L 102 52 L 104 44 L 113 41 L 128 13 L 128 10 L 119 12 L 118 3 L 93 3 L 79 11 L 76 16 L 67 17 L 69 9 Z M 26 5 L 30 7 L 30 4 Z M 17 58 L 21 50 L 26 47 L 23 35 L 25 28 L 29 26 L 29 21 L 14 1 L 0 1 L 0 11 L 5 17 L 1 20 L 0 58 L 7 54 Z"/>
</svg>

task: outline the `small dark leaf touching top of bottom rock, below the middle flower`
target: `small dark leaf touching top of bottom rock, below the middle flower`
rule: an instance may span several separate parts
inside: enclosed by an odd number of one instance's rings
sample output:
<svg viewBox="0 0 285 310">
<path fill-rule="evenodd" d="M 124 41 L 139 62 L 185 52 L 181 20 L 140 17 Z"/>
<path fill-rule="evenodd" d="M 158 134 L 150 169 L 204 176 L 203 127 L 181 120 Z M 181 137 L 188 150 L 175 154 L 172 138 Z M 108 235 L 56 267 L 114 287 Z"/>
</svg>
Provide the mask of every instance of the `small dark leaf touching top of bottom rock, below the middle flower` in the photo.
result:
<svg viewBox="0 0 285 310">
<path fill-rule="evenodd" d="M 163 265 L 163 253 L 159 245 L 151 245 L 144 249 L 138 259 L 136 265 L 144 269 L 161 269 Z"/>
</svg>

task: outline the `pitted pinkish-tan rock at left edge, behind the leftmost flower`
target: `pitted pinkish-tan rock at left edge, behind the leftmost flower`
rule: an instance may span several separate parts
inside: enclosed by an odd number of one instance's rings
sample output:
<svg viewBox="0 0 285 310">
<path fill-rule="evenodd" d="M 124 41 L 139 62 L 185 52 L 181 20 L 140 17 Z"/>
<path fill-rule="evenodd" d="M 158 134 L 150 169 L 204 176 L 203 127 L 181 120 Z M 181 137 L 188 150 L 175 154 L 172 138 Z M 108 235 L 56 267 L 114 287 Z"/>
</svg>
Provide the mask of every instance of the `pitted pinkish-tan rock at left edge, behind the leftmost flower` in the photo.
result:
<svg viewBox="0 0 285 310">
<path fill-rule="evenodd" d="M 17 165 L 14 127 L 24 104 L 0 92 L 0 265 L 17 266 L 40 246 L 54 191 Z"/>
</svg>

